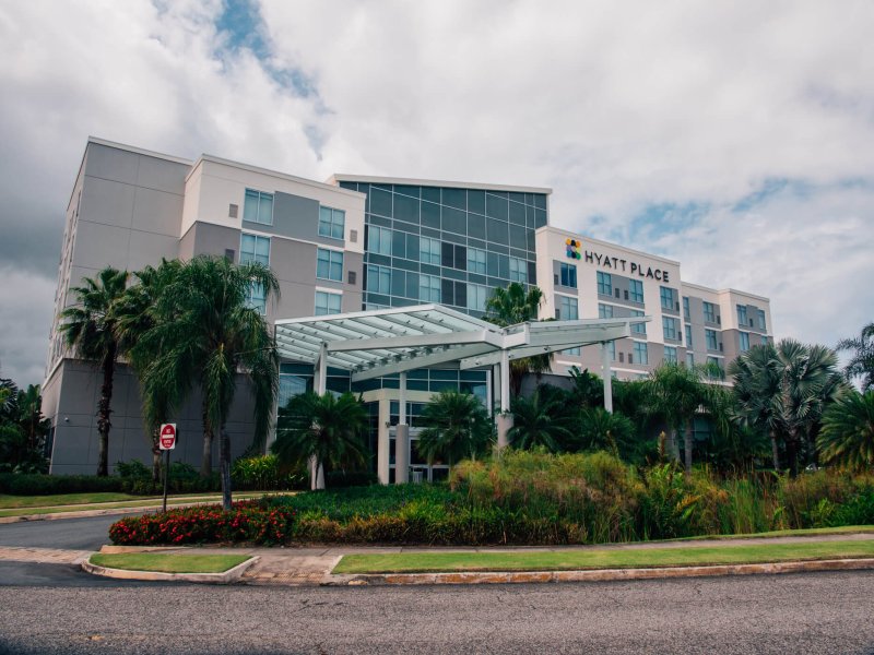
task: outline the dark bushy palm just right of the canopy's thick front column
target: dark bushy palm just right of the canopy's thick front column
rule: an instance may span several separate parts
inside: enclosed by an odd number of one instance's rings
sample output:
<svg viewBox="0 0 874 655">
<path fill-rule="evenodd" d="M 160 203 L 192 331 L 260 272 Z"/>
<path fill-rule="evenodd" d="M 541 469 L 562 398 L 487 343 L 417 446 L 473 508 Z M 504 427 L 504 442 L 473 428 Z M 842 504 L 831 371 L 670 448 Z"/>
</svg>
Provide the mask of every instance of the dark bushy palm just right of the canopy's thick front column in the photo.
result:
<svg viewBox="0 0 874 655">
<path fill-rule="evenodd" d="M 512 402 L 510 444 L 519 449 L 544 448 L 552 453 L 565 450 L 572 438 L 567 394 L 542 384 L 531 397 L 519 396 Z M 558 393 L 556 393 L 558 392 Z"/>
</svg>

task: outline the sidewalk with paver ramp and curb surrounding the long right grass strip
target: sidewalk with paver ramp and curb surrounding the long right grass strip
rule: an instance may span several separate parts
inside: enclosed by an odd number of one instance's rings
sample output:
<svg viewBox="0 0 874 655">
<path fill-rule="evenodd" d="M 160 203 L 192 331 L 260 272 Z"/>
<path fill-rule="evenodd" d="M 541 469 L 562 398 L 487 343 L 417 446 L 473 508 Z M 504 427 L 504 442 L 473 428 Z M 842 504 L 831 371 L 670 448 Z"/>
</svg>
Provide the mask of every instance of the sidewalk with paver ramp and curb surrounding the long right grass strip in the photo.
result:
<svg viewBox="0 0 874 655">
<path fill-rule="evenodd" d="M 488 548 L 426 548 L 426 547 L 346 547 L 323 546 L 306 548 L 213 548 L 213 547 L 118 547 L 105 546 L 103 552 L 226 552 L 258 556 L 259 560 L 239 579 L 239 584 L 327 586 L 327 585 L 385 585 L 385 584 L 483 584 L 520 582 L 582 582 L 607 580 L 640 580 L 654 577 L 686 577 L 700 575 L 741 575 L 754 573 L 788 573 L 799 571 L 832 571 L 874 569 L 874 559 L 820 560 L 761 564 L 730 564 L 714 567 L 671 567 L 656 569 L 600 569 L 588 571 L 545 572 L 482 572 L 482 573 L 404 573 L 333 575 L 331 571 L 344 555 L 398 552 L 509 552 L 509 551 L 566 551 L 648 548 L 706 548 L 767 541 L 768 544 L 799 544 L 829 540 L 872 540 L 874 533 L 846 533 L 838 535 L 810 535 L 798 537 L 761 537 L 736 539 L 701 539 L 694 541 L 647 541 L 638 544 L 611 544 L 594 546 L 558 547 L 488 547 Z M 0 559 L 3 553 L 0 551 Z"/>
</svg>

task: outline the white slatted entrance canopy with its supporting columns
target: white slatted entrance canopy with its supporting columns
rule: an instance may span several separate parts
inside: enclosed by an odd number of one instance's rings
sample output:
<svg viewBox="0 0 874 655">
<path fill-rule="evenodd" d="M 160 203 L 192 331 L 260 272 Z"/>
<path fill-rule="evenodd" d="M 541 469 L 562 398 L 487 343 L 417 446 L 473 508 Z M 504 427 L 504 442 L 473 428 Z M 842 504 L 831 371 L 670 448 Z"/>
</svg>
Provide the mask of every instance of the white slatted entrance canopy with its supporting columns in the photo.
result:
<svg viewBox="0 0 874 655">
<path fill-rule="evenodd" d="M 406 481 L 409 436 L 406 372 L 457 364 L 462 370 L 494 367 L 500 397 L 496 416 L 498 448 L 507 445 L 512 427 L 510 361 L 601 344 L 604 407 L 612 412 L 609 342 L 630 336 L 634 319 L 530 321 L 499 327 L 441 305 L 418 305 L 342 314 L 284 319 L 275 322 L 283 358 L 311 364 L 315 389 L 326 391 L 328 367 L 350 371 L 352 382 L 400 374 L 400 420 L 397 431 L 395 481 Z M 399 444 L 403 441 L 403 448 Z M 403 451 L 403 452 L 401 452 Z M 397 479 L 400 475 L 401 479 Z"/>
</svg>

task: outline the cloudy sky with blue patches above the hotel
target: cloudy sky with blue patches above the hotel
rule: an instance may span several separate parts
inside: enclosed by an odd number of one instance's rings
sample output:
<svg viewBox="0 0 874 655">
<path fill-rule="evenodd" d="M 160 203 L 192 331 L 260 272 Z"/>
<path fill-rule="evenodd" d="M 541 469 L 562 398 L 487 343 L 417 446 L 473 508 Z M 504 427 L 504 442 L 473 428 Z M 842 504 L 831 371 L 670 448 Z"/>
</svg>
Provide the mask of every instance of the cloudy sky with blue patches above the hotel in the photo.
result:
<svg viewBox="0 0 874 655">
<path fill-rule="evenodd" d="M 550 187 L 551 223 L 874 320 L 874 3 L 0 3 L 0 376 L 45 376 L 88 135 L 333 172 Z"/>
</svg>

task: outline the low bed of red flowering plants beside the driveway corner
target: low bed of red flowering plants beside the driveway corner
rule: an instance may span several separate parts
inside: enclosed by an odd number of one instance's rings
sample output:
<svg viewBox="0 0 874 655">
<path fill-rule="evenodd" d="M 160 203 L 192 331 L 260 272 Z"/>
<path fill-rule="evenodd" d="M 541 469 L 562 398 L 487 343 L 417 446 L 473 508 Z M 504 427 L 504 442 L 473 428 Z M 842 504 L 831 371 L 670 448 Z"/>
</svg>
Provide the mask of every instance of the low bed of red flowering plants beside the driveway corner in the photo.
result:
<svg viewBox="0 0 874 655">
<path fill-rule="evenodd" d="M 287 507 L 268 508 L 257 500 L 221 505 L 170 510 L 121 519 L 109 527 L 113 544 L 151 546 L 216 543 L 285 544 L 291 540 L 296 512 Z"/>
</svg>

